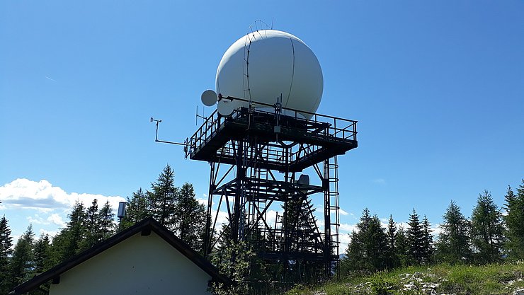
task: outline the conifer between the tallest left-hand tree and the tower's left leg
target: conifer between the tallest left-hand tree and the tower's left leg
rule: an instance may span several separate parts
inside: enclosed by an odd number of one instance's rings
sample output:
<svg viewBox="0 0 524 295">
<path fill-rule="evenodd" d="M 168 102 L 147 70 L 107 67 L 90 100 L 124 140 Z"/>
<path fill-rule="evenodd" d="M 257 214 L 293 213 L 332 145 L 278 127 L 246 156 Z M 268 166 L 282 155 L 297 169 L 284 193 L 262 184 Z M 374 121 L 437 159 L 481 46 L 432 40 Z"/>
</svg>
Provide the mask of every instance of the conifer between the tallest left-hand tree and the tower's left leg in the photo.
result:
<svg viewBox="0 0 524 295">
<path fill-rule="evenodd" d="M 178 193 L 174 214 L 178 238 L 190 245 L 193 250 L 203 252 L 206 211 L 196 197 L 193 185 L 185 183 Z"/>
</svg>

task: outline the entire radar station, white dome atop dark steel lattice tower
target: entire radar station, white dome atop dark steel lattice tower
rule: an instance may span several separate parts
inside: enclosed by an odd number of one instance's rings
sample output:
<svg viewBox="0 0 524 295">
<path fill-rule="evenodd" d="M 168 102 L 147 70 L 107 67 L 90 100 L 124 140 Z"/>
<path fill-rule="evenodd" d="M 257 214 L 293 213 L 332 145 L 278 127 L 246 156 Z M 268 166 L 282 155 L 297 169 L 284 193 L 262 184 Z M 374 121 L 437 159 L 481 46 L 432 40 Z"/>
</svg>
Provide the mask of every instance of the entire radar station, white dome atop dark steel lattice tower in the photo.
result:
<svg viewBox="0 0 524 295">
<path fill-rule="evenodd" d="M 317 114 L 323 88 L 317 57 L 290 33 L 256 30 L 224 53 L 216 91 L 201 96 L 216 110 L 183 143 L 186 157 L 210 163 L 206 256 L 225 238 L 279 265 L 283 281 L 333 272 L 337 156 L 358 146 L 357 122 Z"/>
</svg>

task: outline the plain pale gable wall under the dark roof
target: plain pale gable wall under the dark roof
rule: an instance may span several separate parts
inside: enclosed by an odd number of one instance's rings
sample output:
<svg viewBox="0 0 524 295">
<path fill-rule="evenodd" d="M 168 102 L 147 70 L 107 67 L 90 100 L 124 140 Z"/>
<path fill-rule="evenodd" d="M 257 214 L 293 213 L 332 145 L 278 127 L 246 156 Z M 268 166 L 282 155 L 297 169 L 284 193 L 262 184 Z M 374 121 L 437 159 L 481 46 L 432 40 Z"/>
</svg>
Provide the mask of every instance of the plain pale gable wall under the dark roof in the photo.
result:
<svg viewBox="0 0 524 295">
<path fill-rule="evenodd" d="M 210 294 L 209 274 L 156 235 L 135 236 L 73 267 L 50 295 Z"/>
</svg>

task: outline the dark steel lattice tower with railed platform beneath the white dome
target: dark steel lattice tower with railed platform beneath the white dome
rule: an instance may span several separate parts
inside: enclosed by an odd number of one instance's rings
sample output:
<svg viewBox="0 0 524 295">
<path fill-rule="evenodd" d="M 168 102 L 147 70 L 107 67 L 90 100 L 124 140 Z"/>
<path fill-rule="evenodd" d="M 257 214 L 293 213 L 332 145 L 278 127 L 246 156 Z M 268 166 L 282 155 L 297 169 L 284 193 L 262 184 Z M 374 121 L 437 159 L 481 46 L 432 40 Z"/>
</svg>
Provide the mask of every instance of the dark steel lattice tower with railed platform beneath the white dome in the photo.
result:
<svg viewBox="0 0 524 295">
<path fill-rule="evenodd" d="M 205 255 L 216 243 L 218 215 L 227 212 L 228 238 L 249 241 L 261 259 L 285 269 L 319 263 L 329 276 L 339 256 L 337 156 L 357 147 L 357 122 L 317 114 L 307 120 L 297 110 L 282 115 L 279 103 L 266 106 L 274 112 L 215 111 L 186 141 L 186 156 L 210 163 Z M 313 175 L 300 175 L 304 169 Z M 318 222 L 314 196 L 323 199 Z"/>
</svg>

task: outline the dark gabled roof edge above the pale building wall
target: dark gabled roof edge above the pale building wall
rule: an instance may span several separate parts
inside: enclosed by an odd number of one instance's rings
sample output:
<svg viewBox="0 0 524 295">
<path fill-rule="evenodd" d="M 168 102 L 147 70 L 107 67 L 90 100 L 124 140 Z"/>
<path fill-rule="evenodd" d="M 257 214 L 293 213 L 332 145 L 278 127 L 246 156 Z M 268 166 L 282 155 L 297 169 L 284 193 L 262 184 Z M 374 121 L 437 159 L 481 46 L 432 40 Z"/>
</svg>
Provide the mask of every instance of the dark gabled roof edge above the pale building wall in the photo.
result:
<svg viewBox="0 0 524 295">
<path fill-rule="evenodd" d="M 84 252 L 75 255 L 69 260 L 60 263 L 52 269 L 47 270 L 47 272 L 42 272 L 42 274 L 33 277 L 33 279 L 30 279 L 27 282 L 24 282 L 23 284 L 19 284 L 13 289 L 13 291 L 11 291 L 11 294 L 25 294 L 28 291 L 36 289 L 40 287 L 40 285 L 45 284 L 46 282 L 49 282 L 52 279 L 57 279 L 60 276 L 60 274 L 67 272 L 68 270 L 71 270 L 76 265 L 79 265 L 82 262 L 85 262 L 86 260 L 93 258 L 94 256 L 102 253 L 105 250 L 108 250 L 114 245 L 122 241 L 125 241 L 127 238 L 135 236 L 135 234 L 137 233 L 148 235 L 151 231 L 154 231 L 154 233 L 163 238 L 164 241 L 169 243 L 169 245 L 173 246 L 173 248 L 178 250 L 180 253 L 186 256 L 186 258 L 195 263 L 195 265 L 197 265 L 203 271 L 209 274 L 212 277 L 213 281 L 222 282 L 228 285 L 232 284 L 232 280 L 224 276 L 223 274 L 220 274 L 217 267 L 215 267 L 208 260 L 203 258 L 202 255 L 196 253 L 195 250 L 191 249 L 188 244 L 184 243 L 180 238 L 175 236 L 174 233 L 169 231 L 169 229 L 166 229 L 165 226 L 162 226 L 158 221 L 154 220 L 152 217 L 149 217 L 138 222 L 134 226 L 131 226 L 130 228 L 115 234 L 115 236 L 108 238 L 106 241 L 102 241 L 101 243 L 93 245 L 93 247 L 89 248 L 88 250 L 85 250 Z"/>
</svg>

